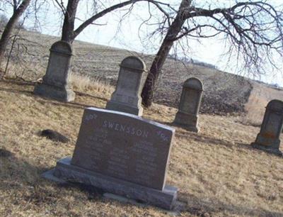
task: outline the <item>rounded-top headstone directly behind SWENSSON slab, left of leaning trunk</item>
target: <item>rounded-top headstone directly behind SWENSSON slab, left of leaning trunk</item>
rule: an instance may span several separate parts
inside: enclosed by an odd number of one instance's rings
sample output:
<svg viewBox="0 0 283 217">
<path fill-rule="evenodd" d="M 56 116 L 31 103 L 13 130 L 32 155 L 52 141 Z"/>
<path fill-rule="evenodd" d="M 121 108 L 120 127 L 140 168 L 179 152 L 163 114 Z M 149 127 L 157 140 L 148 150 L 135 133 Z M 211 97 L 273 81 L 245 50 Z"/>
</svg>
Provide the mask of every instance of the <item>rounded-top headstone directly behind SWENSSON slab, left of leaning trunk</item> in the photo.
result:
<svg viewBox="0 0 283 217">
<path fill-rule="evenodd" d="M 141 90 L 146 74 L 146 65 L 139 57 L 130 56 L 122 60 L 116 89 L 106 109 L 142 116 Z"/>
</svg>

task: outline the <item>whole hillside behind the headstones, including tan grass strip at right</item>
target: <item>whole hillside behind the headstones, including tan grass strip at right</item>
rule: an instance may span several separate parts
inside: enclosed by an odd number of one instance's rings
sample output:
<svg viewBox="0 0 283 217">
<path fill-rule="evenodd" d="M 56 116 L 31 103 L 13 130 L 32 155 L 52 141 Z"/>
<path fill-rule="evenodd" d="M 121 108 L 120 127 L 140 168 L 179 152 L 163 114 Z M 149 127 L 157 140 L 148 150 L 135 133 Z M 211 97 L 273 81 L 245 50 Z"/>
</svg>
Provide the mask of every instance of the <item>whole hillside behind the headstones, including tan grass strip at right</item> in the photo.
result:
<svg viewBox="0 0 283 217">
<path fill-rule="evenodd" d="M 8 75 L 28 80 L 42 77 L 47 67 L 50 45 L 57 40 L 59 38 L 50 35 L 22 31 L 21 38 L 17 40 L 12 52 Z M 93 85 L 87 84 L 96 81 L 101 84 L 103 81 L 112 85 L 111 89 L 108 87 L 108 94 L 111 94 L 115 89 L 119 64 L 128 55 L 137 55 L 146 62 L 147 67 L 151 65 L 152 56 L 149 55 L 75 41 L 73 83 L 81 91 L 93 94 L 97 90 L 90 91 L 88 88 Z M 78 79 L 77 75 L 80 74 L 83 79 Z M 198 77 L 204 83 L 204 97 L 200 109 L 202 113 L 238 113 L 243 116 L 241 122 L 245 124 L 260 126 L 267 102 L 271 99 L 283 100 L 282 90 L 216 69 L 185 65 L 183 62 L 168 59 L 158 81 L 154 101 L 178 108 L 182 84 L 189 77 Z"/>
</svg>

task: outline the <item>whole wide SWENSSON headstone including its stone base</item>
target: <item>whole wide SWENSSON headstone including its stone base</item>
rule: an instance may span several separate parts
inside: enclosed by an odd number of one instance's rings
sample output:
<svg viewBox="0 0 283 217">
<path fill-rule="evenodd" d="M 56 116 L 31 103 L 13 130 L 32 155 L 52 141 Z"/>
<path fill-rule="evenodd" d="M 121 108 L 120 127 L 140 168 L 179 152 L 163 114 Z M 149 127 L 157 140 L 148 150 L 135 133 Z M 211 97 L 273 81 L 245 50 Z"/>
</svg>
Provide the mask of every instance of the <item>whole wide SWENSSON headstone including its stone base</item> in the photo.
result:
<svg viewBox="0 0 283 217">
<path fill-rule="evenodd" d="M 166 185 L 166 170 L 174 133 L 129 113 L 85 109 L 73 157 L 59 160 L 45 177 L 171 209 L 177 189 Z"/>
</svg>

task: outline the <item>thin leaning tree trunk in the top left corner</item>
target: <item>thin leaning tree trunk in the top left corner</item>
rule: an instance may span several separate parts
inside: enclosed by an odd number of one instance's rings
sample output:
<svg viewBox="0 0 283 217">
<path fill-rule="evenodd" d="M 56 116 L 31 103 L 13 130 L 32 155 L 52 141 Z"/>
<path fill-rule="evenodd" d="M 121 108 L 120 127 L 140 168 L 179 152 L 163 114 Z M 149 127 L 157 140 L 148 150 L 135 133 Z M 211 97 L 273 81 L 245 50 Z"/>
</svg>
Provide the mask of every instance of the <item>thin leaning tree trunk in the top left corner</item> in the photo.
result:
<svg viewBox="0 0 283 217">
<path fill-rule="evenodd" d="M 4 28 L 4 31 L 0 39 L 0 69 L 1 69 L 1 64 L 4 60 L 4 53 L 8 45 L 8 40 L 12 33 L 12 30 L 15 24 L 18 22 L 18 18 L 20 18 L 20 16 L 23 14 L 25 9 L 27 9 L 28 5 L 30 4 L 30 1 L 31 0 L 23 0 L 21 5 L 18 6 L 17 9 L 16 9 L 16 6 L 14 6 L 13 15 L 11 16 L 11 18 L 9 19 L 8 23 L 6 24 Z M 0 74 L 0 78 L 1 78 L 1 74 Z"/>
</svg>

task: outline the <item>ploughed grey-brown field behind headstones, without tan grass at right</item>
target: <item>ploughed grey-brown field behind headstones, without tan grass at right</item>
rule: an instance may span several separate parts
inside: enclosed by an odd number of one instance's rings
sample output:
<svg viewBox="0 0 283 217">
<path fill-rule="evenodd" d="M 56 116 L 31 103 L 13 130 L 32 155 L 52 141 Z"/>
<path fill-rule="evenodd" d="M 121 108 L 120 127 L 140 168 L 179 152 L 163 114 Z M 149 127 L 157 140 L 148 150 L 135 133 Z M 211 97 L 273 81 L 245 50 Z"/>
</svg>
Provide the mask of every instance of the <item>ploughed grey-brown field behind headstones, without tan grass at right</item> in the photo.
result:
<svg viewBox="0 0 283 217">
<path fill-rule="evenodd" d="M 23 62 L 18 67 L 11 67 L 19 77 L 38 79 L 45 74 L 49 49 L 59 38 L 23 31 L 18 47 L 13 50 L 13 63 Z M 128 50 L 120 50 L 102 45 L 93 45 L 76 41 L 74 43 L 74 64 L 72 71 L 76 74 L 100 77 L 115 84 L 120 62 L 128 55 L 138 55 L 150 67 L 152 56 L 142 55 Z M 21 60 L 21 61 L 20 61 Z M 154 101 L 167 106 L 178 107 L 182 84 L 189 77 L 198 77 L 204 83 L 202 113 L 233 113 L 244 111 L 244 104 L 252 86 L 248 80 L 234 74 L 220 72 L 216 69 L 183 64 L 172 59 L 166 60 L 158 82 Z"/>
</svg>

